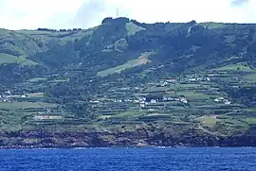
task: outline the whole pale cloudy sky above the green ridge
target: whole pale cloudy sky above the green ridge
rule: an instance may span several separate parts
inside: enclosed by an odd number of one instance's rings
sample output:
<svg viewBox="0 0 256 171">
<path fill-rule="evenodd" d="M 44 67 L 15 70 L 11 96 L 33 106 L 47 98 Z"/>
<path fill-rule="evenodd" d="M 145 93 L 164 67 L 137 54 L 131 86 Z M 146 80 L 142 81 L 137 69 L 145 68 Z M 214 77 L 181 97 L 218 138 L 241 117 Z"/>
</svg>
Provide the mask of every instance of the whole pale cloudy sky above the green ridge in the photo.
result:
<svg viewBox="0 0 256 171">
<path fill-rule="evenodd" d="M 0 28 L 88 28 L 117 9 L 143 23 L 256 23 L 256 0 L 0 0 Z"/>
</svg>

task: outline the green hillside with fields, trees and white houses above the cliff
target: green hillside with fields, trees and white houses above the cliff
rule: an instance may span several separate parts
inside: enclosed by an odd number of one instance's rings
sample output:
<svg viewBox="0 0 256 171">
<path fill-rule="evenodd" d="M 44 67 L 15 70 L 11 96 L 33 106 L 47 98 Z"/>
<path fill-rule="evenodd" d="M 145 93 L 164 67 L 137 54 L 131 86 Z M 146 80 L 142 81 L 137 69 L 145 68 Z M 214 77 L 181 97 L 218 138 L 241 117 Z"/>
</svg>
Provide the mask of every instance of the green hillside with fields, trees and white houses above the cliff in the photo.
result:
<svg viewBox="0 0 256 171">
<path fill-rule="evenodd" d="M 256 124 L 255 49 L 256 25 L 0 29 L 0 127 L 245 133 Z"/>
</svg>

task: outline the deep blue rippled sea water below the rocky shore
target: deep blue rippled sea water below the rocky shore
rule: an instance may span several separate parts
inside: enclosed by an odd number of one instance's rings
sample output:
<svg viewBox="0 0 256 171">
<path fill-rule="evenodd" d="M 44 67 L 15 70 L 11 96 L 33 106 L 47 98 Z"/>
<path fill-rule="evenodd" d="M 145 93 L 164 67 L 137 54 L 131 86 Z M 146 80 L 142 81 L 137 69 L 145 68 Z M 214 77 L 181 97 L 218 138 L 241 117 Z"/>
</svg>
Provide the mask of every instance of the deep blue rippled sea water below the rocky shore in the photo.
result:
<svg viewBox="0 0 256 171">
<path fill-rule="evenodd" d="M 256 148 L 0 150 L 0 170 L 256 171 Z"/>
</svg>

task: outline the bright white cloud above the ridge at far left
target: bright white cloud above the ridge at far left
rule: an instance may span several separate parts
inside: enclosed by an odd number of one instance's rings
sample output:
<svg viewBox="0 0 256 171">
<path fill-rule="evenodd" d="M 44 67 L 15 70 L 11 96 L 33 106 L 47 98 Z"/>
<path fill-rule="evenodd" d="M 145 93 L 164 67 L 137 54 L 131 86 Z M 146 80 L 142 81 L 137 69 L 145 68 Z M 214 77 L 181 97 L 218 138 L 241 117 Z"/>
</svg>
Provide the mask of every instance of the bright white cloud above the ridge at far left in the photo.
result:
<svg viewBox="0 0 256 171">
<path fill-rule="evenodd" d="M 53 27 L 74 17 L 83 0 L 0 0 L 0 27 L 8 29 L 36 29 Z M 58 16 L 59 13 L 59 16 Z M 61 16 L 60 14 L 64 14 Z M 58 16 L 58 17 L 57 17 Z M 56 26 L 56 25 L 55 25 Z M 64 24 L 64 26 L 67 26 Z"/>
</svg>

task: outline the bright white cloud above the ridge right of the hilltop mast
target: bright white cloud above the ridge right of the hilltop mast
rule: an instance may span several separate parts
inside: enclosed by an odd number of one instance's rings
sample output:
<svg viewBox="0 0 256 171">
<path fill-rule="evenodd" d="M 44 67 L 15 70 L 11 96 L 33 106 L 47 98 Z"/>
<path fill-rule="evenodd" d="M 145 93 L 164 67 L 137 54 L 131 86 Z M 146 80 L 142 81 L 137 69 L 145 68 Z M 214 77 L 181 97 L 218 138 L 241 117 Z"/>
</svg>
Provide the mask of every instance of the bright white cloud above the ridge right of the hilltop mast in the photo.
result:
<svg viewBox="0 0 256 171">
<path fill-rule="evenodd" d="M 130 18 L 139 22 L 253 22 L 255 18 L 248 17 L 251 8 L 233 9 L 231 0 L 129 0 L 121 1 L 122 7 L 131 9 Z M 254 12 L 255 13 L 255 12 Z"/>
</svg>

